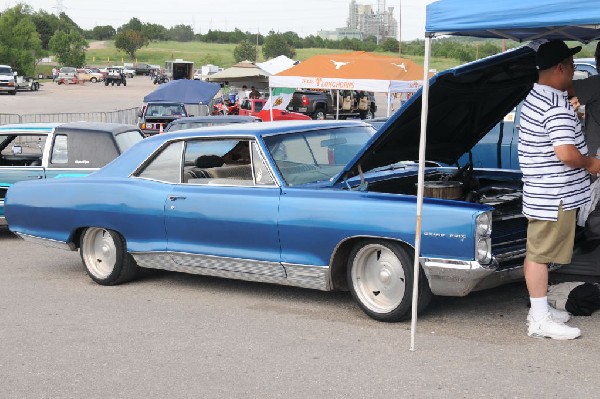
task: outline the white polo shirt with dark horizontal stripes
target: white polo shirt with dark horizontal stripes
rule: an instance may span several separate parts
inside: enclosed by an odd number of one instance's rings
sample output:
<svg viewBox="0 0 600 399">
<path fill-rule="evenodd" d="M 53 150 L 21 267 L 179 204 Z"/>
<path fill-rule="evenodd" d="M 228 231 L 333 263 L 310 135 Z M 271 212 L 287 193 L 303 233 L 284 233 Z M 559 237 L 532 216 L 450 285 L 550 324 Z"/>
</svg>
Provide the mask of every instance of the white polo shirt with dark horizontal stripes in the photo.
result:
<svg viewBox="0 0 600 399">
<path fill-rule="evenodd" d="M 563 164 L 554 147 L 572 144 L 587 155 L 581 123 L 567 93 L 535 84 L 521 110 L 519 163 L 523 172 L 523 215 L 557 220 L 558 207 L 576 209 L 590 200 L 590 179 L 582 168 Z"/>
</svg>

